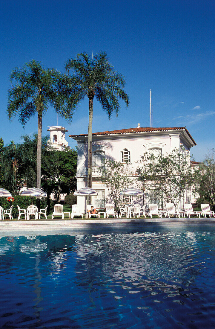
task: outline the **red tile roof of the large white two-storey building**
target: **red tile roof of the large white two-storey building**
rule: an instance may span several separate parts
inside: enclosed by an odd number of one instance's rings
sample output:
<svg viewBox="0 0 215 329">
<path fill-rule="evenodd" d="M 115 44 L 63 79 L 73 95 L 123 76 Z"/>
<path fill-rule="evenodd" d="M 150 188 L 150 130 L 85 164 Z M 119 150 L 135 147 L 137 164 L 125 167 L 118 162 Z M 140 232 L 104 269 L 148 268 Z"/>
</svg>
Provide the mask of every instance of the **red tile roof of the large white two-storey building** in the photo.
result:
<svg viewBox="0 0 215 329">
<path fill-rule="evenodd" d="M 128 128 L 128 129 L 120 129 L 120 130 L 110 130 L 110 131 L 102 131 L 98 133 L 93 133 L 93 136 L 102 136 L 102 135 L 119 135 L 119 134 L 134 134 L 134 133 L 147 133 L 147 132 L 154 132 L 154 131 L 171 131 L 171 130 L 185 130 L 186 133 L 189 135 L 190 139 L 192 139 L 193 143 L 196 145 L 195 140 L 192 138 L 186 127 L 172 127 L 172 128 Z M 84 137 L 88 136 L 88 134 L 81 134 L 81 135 L 69 135 L 71 138 L 75 137 Z"/>
</svg>

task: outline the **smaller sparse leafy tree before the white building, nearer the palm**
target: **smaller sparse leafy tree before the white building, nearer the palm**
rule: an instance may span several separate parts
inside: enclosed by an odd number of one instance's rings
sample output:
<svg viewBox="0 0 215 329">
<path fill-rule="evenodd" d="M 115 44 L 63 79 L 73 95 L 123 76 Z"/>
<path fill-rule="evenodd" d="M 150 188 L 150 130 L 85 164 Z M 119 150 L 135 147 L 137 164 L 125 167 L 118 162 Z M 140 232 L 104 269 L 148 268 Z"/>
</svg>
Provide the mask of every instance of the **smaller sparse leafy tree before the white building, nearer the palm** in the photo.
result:
<svg viewBox="0 0 215 329">
<path fill-rule="evenodd" d="M 99 180 L 109 192 L 110 199 L 114 202 L 116 209 L 121 205 L 123 196 L 120 192 L 133 184 L 133 172 L 129 164 L 105 160 L 98 168 Z"/>
</svg>

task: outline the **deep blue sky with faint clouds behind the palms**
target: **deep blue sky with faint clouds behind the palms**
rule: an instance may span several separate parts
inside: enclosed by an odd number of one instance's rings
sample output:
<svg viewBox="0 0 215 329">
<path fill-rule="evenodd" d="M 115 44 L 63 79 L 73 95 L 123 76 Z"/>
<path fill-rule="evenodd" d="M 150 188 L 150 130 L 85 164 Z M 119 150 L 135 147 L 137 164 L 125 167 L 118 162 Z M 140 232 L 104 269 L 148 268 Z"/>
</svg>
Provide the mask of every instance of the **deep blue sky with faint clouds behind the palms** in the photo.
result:
<svg viewBox="0 0 215 329">
<path fill-rule="evenodd" d="M 196 161 L 215 146 L 215 2 L 214 1 L 2 1 L 1 133 L 5 144 L 20 142 L 37 131 L 37 117 L 26 124 L 6 114 L 9 76 L 32 59 L 64 71 L 65 61 L 86 51 L 106 51 L 126 80 L 130 106 L 108 121 L 94 101 L 93 132 L 150 126 L 186 126 L 197 146 Z M 68 124 L 68 134 L 88 131 L 88 99 Z M 52 108 L 43 117 L 43 135 L 57 117 Z M 76 143 L 67 137 L 69 145 Z"/>
</svg>

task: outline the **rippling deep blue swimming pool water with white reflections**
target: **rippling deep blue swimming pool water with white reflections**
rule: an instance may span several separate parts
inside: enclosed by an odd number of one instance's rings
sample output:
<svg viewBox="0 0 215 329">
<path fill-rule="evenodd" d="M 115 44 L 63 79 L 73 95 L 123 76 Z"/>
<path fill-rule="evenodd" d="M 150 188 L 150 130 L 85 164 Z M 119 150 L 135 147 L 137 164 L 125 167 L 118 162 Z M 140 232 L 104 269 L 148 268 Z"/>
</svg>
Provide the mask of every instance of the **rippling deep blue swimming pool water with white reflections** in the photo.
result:
<svg viewBox="0 0 215 329">
<path fill-rule="evenodd" d="M 215 328 L 215 230 L 0 238 L 1 328 Z"/>
</svg>

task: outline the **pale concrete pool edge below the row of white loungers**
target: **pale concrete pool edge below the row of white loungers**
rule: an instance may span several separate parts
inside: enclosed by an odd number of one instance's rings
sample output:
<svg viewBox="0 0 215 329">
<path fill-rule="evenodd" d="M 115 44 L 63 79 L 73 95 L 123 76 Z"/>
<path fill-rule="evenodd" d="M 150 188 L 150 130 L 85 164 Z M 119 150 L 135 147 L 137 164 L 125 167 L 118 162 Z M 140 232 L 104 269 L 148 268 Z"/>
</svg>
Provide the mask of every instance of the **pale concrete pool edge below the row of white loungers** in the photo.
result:
<svg viewBox="0 0 215 329">
<path fill-rule="evenodd" d="M 71 219 L 71 220 L 40 220 L 40 221 L 0 221 L 0 232 L 8 231 L 25 231 L 39 229 L 41 231 L 49 231 L 55 229 L 73 229 L 89 227 L 92 224 L 99 227 L 112 224 L 144 224 L 144 223 L 166 223 L 166 224 L 207 224 L 214 223 L 215 218 L 104 218 L 104 219 Z"/>
</svg>

